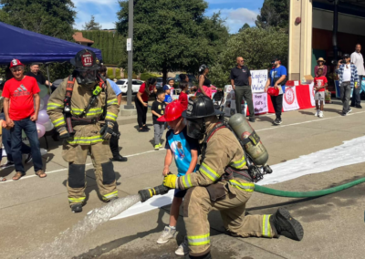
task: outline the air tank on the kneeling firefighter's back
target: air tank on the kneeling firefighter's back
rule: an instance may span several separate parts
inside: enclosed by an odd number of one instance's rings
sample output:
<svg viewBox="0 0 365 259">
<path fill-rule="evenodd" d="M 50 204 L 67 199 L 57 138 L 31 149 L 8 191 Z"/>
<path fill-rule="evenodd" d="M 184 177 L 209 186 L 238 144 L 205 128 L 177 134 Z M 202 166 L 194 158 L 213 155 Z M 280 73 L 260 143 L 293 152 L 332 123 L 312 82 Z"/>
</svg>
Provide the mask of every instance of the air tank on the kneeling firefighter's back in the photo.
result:
<svg viewBox="0 0 365 259">
<path fill-rule="evenodd" d="M 246 153 L 246 162 L 250 175 L 255 182 L 264 178 L 264 174 L 272 173 L 268 161 L 268 153 L 260 137 L 252 129 L 243 114 L 235 114 L 228 120 L 228 125 L 235 132 Z"/>
</svg>

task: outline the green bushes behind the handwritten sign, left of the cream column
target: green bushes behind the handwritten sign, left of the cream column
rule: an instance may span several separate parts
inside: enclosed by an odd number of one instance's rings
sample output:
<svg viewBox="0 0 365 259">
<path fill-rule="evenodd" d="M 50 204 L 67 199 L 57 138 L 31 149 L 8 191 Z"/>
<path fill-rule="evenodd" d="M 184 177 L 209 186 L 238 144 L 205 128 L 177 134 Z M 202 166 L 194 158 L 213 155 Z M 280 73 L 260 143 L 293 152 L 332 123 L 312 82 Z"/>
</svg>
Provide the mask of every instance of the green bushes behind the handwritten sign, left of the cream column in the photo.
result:
<svg viewBox="0 0 365 259">
<path fill-rule="evenodd" d="M 236 57 L 244 57 L 245 66 L 250 70 L 270 68 L 272 57 L 280 57 L 282 64 L 287 67 L 287 48 L 285 29 L 246 28 L 230 37 L 224 51 L 211 67 L 209 77 L 218 88 L 230 84 L 229 75 L 231 68 L 235 67 Z"/>
</svg>

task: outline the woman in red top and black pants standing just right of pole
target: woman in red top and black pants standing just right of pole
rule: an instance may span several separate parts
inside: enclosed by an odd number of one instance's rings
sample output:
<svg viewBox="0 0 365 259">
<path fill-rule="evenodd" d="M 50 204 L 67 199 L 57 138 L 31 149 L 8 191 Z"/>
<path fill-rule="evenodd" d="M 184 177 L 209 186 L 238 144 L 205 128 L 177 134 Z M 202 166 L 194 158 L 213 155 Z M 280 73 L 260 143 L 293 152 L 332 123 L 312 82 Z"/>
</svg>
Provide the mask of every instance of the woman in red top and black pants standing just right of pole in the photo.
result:
<svg viewBox="0 0 365 259">
<path fill-rule="evenodd" d="M 146 82 L 141 84 L 140 90 L 137 93 L 137 97 L 134 98 L 137 109 L 137 121 L 140 127 L 140 132 L 146 132 L 150 128 L 146 125 L 146 117 L 148 110 L 148 99 L 152 93 L 156 93 L 156 78 L 149 78 Z"/>
</svg>

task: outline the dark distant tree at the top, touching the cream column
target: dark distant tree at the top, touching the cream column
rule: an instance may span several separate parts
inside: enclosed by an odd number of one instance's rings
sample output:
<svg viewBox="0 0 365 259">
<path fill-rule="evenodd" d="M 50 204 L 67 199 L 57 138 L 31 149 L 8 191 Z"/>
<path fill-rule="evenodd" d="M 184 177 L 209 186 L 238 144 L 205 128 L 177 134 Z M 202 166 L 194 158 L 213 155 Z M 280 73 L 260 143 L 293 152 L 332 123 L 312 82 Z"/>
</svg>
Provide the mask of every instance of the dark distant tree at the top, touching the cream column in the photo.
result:
<svg viewBox="0 0 365 259">
<path fill-rule="evenodd" d="M 288 29 L 289 0 L 265 0 L 255 25 L 266 28 L 278 26 Z"/>
</svg>

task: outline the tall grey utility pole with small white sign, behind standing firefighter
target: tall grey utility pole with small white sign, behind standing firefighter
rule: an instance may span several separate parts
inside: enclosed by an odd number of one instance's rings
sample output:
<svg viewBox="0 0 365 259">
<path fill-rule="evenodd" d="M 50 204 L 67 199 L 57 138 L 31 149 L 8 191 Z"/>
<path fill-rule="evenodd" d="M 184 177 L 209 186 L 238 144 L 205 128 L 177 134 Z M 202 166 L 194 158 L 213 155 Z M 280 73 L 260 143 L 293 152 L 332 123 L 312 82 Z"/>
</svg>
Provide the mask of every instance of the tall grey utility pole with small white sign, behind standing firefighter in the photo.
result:
<svg viewBox="0 0 365 259">
<path fill-rule="evenodd" d="M 133 79 L 133 0 L 129 0 L 129 16 L 128 16 L 128 89 L 127 89 L 127 105 L 124 109 L 134 109 L 131 104 L 131 81 Z"/>
</svg>

